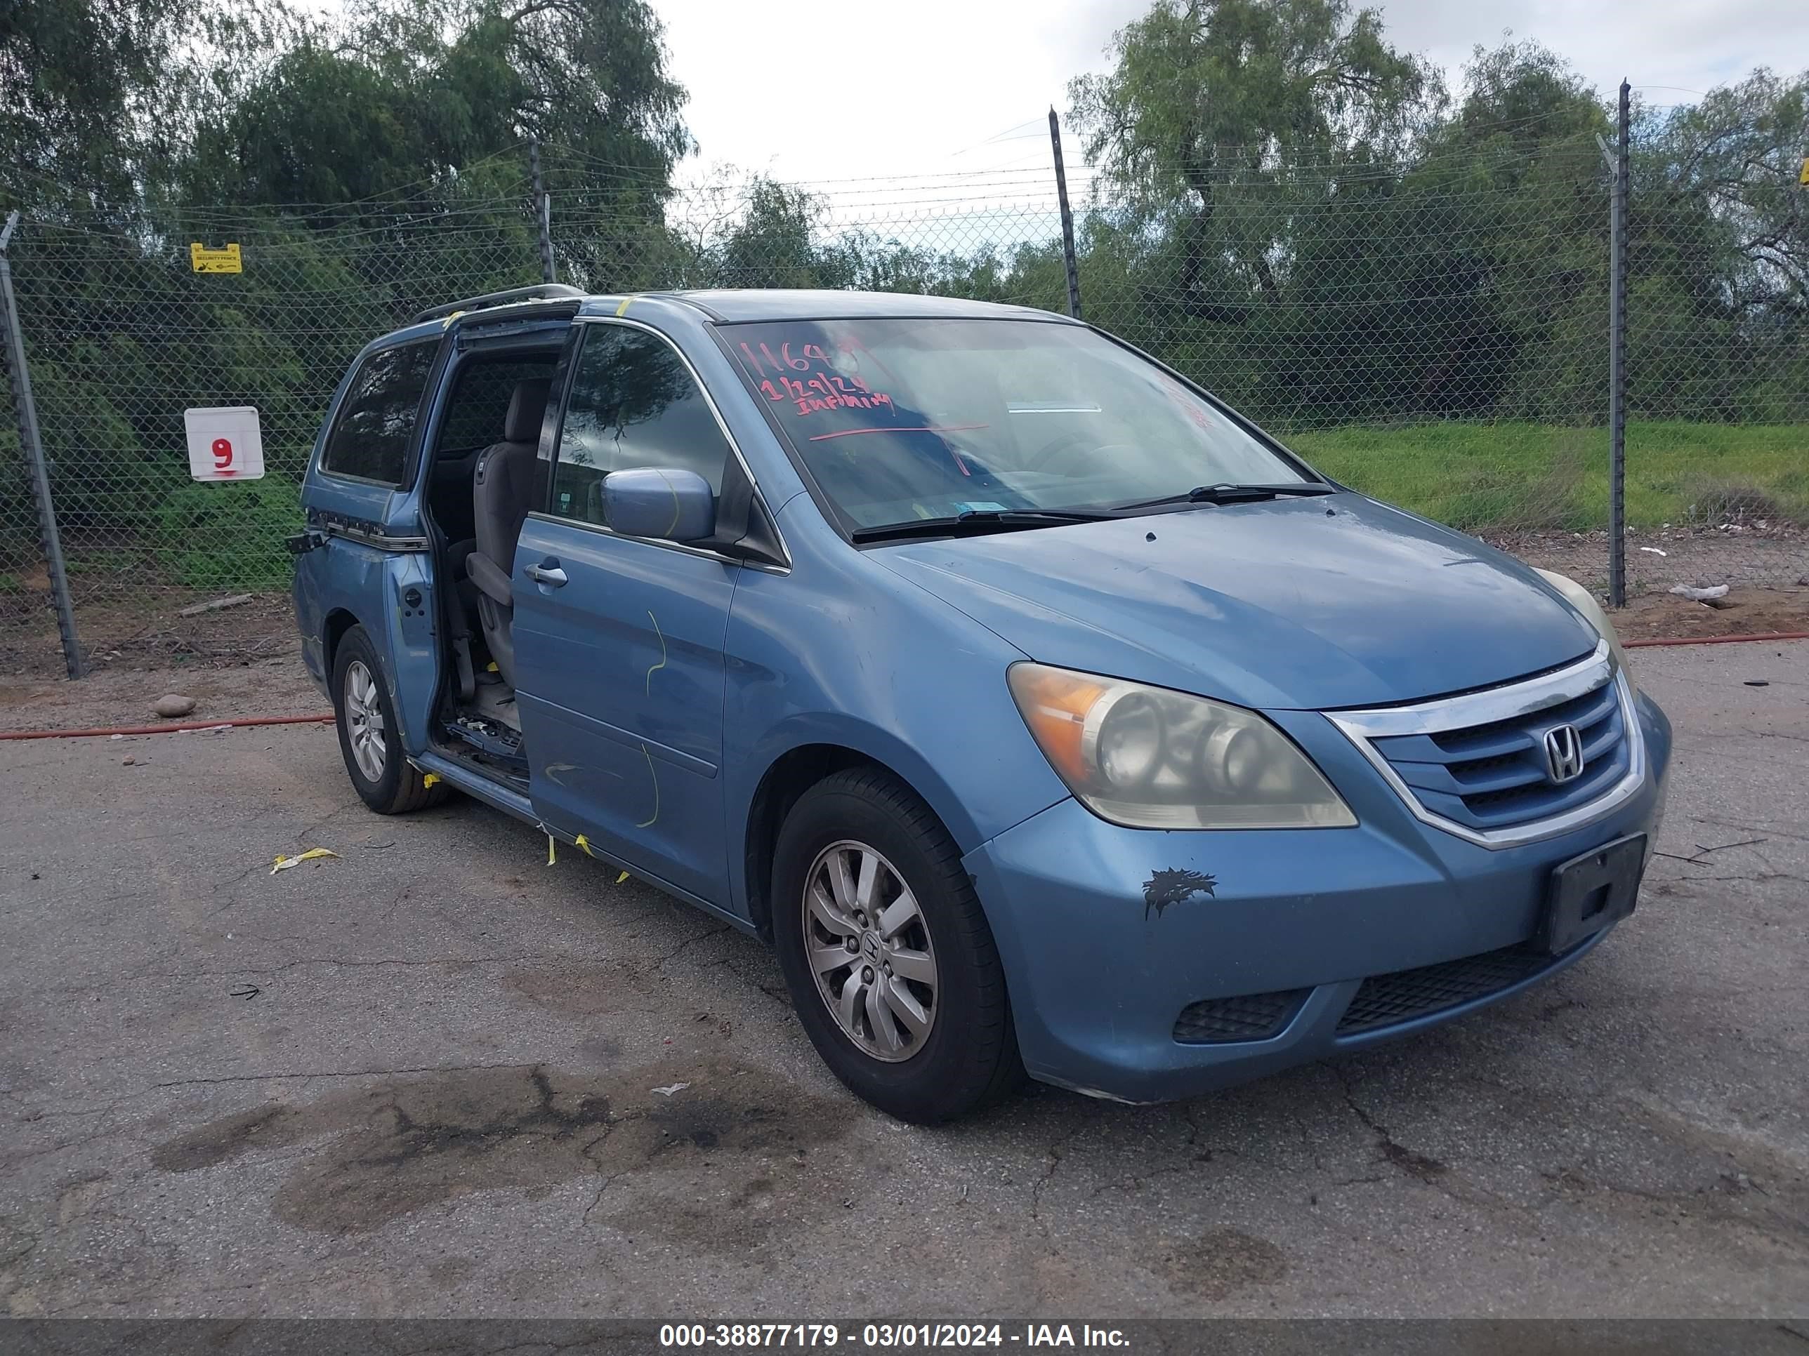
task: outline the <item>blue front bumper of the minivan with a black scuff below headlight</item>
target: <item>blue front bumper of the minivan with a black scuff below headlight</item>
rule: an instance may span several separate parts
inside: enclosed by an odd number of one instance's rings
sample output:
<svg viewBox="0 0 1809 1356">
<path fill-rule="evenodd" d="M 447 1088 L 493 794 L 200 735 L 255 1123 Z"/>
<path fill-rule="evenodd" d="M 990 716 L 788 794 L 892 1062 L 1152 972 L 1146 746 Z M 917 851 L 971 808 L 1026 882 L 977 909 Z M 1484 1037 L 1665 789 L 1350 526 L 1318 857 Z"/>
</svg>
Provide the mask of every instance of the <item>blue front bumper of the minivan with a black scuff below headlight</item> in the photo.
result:
<svg viewBox="0 0 1809 1356">
<path fill-rule="evenodd" d="M 1552 868 L 1624 833 L 1655 833 L 1664 806 L 1672 732 L 1643 694 L 1644 785 L 1561 837 L 1494 850 L 1415 819 L 1324 716 L 1268 714 L 1344 792 L 1357 828 L 1134 830 L 1067 799 L 966 855 L 1031 1076 L 1165 1101 L 1505 998 L 1610 931 L 1550 962 L 1527 960 L 1518 947 L 1539 926 Z M 1444 964 L 1465 958 L 1476 964 Z M 1402 1003 L 1407 1016 L 1389 1020 L 1389 993 L 1451 1002 L 1420 1003 L 1420 1014 Z M 1234 1031 L 1239 1005 L 1210 1000 L 1246 994 L 1266 1003 L 1254 1005 L 1255 1025 L 1279 1012 L 1261 1038 L 1176 1040 L 1178 1018 L 1196 1003 L 1234 1018 L 1207 1029 Z"/>
</svg>

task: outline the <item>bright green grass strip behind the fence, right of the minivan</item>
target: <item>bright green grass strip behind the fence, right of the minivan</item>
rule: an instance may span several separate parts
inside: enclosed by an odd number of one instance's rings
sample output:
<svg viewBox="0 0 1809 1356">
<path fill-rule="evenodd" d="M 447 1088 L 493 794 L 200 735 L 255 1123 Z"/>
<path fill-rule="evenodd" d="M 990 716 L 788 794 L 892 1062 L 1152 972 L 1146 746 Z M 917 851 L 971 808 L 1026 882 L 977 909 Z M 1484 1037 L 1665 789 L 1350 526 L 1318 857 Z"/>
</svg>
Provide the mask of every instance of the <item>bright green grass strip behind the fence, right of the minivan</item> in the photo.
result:
<svg viewBox="0 0 1809 1356">
<path fill-rule="evenodd" d="M 1608 526 L 1608 430 L 1539 423 L 1326 428 L 1286 439 L 1377 499 L 1469 532 Z M 1635 528 L 1809 523 L 1809 425 L 1626 425 Z"/>
</svg>

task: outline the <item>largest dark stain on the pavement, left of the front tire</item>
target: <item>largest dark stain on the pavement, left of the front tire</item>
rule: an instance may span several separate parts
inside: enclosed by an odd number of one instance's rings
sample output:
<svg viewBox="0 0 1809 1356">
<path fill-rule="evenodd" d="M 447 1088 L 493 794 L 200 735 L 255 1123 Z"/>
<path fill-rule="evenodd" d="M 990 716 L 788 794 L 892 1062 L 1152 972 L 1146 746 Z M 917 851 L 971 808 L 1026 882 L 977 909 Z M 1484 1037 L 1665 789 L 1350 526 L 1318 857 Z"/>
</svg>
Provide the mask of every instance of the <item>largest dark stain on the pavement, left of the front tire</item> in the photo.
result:
<svg viewBox="0 0 1809 1356">
<path fill-rule="evenodd" d="M 713 1181 L 740 1179 L 734 1190 L 756 1193 L 772 1163 L 801 1161 L 807 1148 L 845 1134 L 854 1116 L 848 1099 L 803 1096 L 725 1063 L 669 1059 L 608 1078 L 541 1065 L 454 1069 L 304 1106 L 266 1103 L 161 1144 L 152 1163 L 197 1172 L 327 1139 L 277 1190 L 275 1213 L 315 1233 L 365 1233 L 472 1191 L 608 1182 L 706 1154 Z M 724 1173 L 724 1159 L 742 1159 L 745 1170 Z"/>
</svg>

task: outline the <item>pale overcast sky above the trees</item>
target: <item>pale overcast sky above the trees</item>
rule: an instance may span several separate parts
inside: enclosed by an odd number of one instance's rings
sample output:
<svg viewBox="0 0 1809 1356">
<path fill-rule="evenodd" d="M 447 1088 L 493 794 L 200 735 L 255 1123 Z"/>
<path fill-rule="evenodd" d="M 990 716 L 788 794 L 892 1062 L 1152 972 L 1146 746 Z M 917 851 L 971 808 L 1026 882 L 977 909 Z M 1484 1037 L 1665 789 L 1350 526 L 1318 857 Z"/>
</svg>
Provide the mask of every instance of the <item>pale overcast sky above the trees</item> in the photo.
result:
<svg viewBox="0 0 1809 1356">
<path fill-rule="evenodd" d="M 834 7 L 651 0 L 689 89 L 698 157 L 810 183 L 1037 168 L 1047 108 L 1103 65 L 1147 0 L 856 0 Z M 1563 52 L 1599 90 L 1624 74 L 1688 103 L 1755 65 L 1809 65 L 1804 0 L 1391 0 L 1389 38 L 1453 74 L 1503 29 Z M 1078 148 L 1069 145 L 1069 159 Z"/>
</svg>

